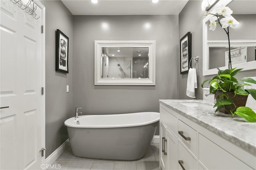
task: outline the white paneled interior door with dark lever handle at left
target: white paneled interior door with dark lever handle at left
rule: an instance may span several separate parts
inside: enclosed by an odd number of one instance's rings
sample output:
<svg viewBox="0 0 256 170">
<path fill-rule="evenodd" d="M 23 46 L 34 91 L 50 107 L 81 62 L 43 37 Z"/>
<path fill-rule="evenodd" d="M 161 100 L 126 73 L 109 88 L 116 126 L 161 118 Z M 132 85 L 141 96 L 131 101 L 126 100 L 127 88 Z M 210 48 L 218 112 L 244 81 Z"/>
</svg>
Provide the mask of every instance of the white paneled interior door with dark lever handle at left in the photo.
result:
<svg viewBox="0 0 256 170">
<path fill-rule="evenodd" d="M 0 106 L 7 107 L 0 109 L 0 169 L 41 169 L 45 161 L 40 151 L 45 145 L 43 14 L 37 7 L 36 20 L 13 2 L 0 2 Z"/>
</svg>

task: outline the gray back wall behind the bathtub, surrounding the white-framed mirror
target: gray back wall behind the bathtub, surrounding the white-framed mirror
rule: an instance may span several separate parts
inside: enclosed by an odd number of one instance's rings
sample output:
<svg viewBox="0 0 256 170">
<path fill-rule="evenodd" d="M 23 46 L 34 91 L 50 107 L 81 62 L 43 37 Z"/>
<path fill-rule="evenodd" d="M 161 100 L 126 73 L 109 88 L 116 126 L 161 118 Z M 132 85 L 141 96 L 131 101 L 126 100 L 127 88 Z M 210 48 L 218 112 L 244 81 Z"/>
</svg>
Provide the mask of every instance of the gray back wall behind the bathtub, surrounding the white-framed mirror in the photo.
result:
<svg viewBox="0 0 256 170">
<path fill-rule="evenodd" d="M 74 16 L 74 107 L 84 114 L 159 112 L 159 99 L 177 98 L 177 33 L 177 15 Z M 95 86 L 94 40 L 156 40 L 156 86 Z"/>
</svg>

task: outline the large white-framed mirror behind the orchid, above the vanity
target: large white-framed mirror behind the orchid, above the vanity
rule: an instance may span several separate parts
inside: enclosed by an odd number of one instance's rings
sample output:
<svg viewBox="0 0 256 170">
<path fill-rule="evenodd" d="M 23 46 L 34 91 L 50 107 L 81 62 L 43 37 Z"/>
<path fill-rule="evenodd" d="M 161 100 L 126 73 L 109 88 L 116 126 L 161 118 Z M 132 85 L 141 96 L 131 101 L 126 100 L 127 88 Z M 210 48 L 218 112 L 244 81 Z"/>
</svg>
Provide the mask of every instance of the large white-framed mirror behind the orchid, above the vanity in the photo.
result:
<svg viewBox="0 0 256 170">
<path fill-rule="evenodd" d="M 256 1 L 254 0 L 220 0 L 216 6 L 224 4 L 232 11 L 232 16 L 240 23 L 230 28 L 230 47 L 232 68 L 243 70 L 256 69 Z M 210 13 L 216 14 L 213 10 Z M 208 15 L 203 20 L 203 75 L 217 74 L 220 68 L 228 69 L 228 36 L 217 25 L 214 31 L 209 30 Z"/>
</svg>

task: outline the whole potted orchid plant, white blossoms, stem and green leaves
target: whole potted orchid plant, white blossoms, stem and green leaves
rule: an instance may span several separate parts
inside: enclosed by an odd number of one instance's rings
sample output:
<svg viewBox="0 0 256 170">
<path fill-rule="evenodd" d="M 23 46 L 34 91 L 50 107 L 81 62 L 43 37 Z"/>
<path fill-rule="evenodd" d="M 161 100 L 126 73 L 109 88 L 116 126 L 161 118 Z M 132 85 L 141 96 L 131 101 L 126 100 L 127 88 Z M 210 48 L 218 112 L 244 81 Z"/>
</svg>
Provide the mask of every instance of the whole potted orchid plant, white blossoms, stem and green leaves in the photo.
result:
<svg viewBox="0 0 256 170">
<path fill-rule="evenodd" d="M 236 95 L 242 95 L 242 96 L 248 96 L 251 94 L 251 96 L 256 100 L 256 89 L 244 89 L 243 86 L 251 86 L 251 84 L 247 83 L 239 83 L 238 80 L 254 83 L 256 84 L 256 81 L 252 78 L 246 78 L 246 79 L 236 79 L 234 76 L 240 72 L 242 69 L 232 69 L 231 64 L 231 55 L 230 55 L 230 38 L 229 38 L 229 27 L 236 28 L 239 22 L 231 16 L 233 11 L 224 5 L 216 7 L 216 13 L 217 14 L 211 14 L 212 17 L 210 20 L 210 30 L 214 31 L 219 24 L 226 34 L 228 35 L 228 47 L 229 47 L 229 55 L 228 55 L 228 69 L 226 70 L 220 70 L 218 68 L 218 76 L 214 76 L 211 79 L 205 80 L 202 82 L 201 86 L 203 87 L 205 82 L 210 82 L 210 93 L 216 94 L 217 91 L 223 92 L 223 94 L 217 96 L 218 101 L 214 105 L 214 107 L 217 107 L 216 111 L 219 111 L 220 109 L 224 108 L 224 105 L 233 105 L 234 109 L 229 110 L 232 114 L 232 117 L 236 114 L 240 117 L 243 117 L 249 122 L 256 122 L 256 113 L 250 108 L 250 107 L 237 107 L 236 104 L 233 101 L 233 98 Z M 207 15 L 209 15 L 207 14 Z M 220 16 L 223 16 L 220 19 Z M 230 96 L 227 94 L 227 92 L 234 92 L 234 97 L 230 98 Z M 224 97 L 224 99 L 221 99 Z M 215 112 L 216 112 L 215 111 Z"/>
</svg>

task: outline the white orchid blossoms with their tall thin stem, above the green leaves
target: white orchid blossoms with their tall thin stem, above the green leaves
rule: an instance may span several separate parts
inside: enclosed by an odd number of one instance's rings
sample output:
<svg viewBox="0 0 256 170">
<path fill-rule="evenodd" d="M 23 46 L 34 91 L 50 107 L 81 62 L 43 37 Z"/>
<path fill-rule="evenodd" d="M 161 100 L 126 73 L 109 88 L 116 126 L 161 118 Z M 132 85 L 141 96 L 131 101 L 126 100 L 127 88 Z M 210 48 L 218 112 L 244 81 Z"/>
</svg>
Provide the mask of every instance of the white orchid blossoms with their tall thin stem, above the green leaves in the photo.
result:
<svg viewBox="0 0 256 170">
<path fill-rule="evenodd" d="M 224 5 L 218 6 L 216 8 L 217 14 L 211 14 L 212 17 L 209 19 L 210 20 L 210 30 L 214 31 L 217 27 L 217 23 L 220 24 L 220 26 L 224 29 L 226 34 L 228 35 L 228 68 L 232 68 L 231 64 L 231 55 L 230 55 L 230 39 L 229 39 L 229 27 L 231 28 L 236 28 L 239 22 L 231 16 L 233 11 Z M 207 14 L 208 15 L 208 14 Z M 220 19 L 219 16 L 223 16 L 224 18 Z M 216 20 L 218 20 L 216 22 Z"/>
</svg>

